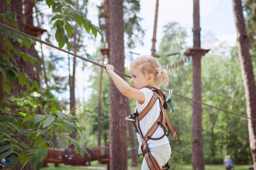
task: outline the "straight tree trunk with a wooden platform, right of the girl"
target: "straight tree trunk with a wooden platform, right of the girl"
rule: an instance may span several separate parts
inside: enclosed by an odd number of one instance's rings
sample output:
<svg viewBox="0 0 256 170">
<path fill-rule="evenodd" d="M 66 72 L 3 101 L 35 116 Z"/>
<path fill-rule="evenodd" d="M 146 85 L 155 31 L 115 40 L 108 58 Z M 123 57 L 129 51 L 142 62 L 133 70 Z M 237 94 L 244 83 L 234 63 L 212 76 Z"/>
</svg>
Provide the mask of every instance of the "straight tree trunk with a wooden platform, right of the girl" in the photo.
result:
<svg viewBox="0 0 256 170">
<path fill-rule="evenodd" d="M 200 49 L 200 8 L 199 0 L 193 1 L 193 49 Z M 201 54 L 193 58 L 193 99 L 201 101 Z M 202 106 L 192 103 L 192 166 L 193 169 L 204 169 Z"/>
</svg>

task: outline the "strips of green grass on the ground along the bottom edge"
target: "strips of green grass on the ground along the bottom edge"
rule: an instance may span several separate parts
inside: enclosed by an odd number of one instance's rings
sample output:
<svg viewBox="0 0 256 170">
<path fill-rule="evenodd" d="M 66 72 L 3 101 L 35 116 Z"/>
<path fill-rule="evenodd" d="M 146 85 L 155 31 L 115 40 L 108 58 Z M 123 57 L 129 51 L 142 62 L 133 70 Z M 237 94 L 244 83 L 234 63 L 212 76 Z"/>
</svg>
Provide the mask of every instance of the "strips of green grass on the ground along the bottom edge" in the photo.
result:
<svg viewBox="0 0 256 170">
<path fill-rule="evenodd" d="M 48 168 L 42 168 L 43 170 L 92 170 L 92 167 L 103 167 L 104 169 L 107 169 L 106 164 L 99 164 L 96 161 L 91 163 L 90 169 L 86 167 L 72 167 L 69 165 L 59 164 L 60 167 L 54 167 L 54 164 L 48 164 Z M 249 165 L 236 165 L 236 170 L 247 170 L 249 168 Z M 97 169 L 97 168 L 95 168 Z M 130 168 L 129 168 L 130 169 Z M 132 170 L 141 170 L 140 167 L 132 168 Z M 192 170 L 192 165 L 183 165 L 180 167 L 180 169 L 177 170 Z M 205 165 L 205 170 L 225 170 L 224 165 Z"/>
</svg>

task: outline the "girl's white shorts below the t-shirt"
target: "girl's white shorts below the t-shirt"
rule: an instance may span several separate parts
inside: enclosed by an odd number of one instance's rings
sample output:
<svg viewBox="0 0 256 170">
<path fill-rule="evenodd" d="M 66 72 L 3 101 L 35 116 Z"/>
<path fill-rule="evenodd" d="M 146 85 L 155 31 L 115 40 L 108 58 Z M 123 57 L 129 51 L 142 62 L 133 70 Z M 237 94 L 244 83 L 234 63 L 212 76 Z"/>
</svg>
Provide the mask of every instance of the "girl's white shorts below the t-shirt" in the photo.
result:
<svg viewBox="0 0 256 170">
<path fill-rule="evenodd" d="M 172 150 L 170 143 L 159 147 L 149 148 L 149 150 L 152 156 L 155 157 L 160 167 L 163 167 L 171 157 Z M 141 170 L 150 170 L 150 168 L 148 168 L 147 161 L 145 158 L 143 158 Z"/>
</svg>

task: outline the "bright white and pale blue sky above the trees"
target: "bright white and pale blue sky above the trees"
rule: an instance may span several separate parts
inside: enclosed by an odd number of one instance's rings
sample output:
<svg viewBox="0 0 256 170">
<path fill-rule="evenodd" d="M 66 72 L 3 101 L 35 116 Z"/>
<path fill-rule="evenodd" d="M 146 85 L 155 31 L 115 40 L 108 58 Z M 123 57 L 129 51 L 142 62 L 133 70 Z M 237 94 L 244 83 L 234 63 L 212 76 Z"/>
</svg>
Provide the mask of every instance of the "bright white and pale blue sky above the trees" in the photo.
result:
<svg viewBox="0 0 256 170">
<path fill-rule="evenodd" d="M 99 2 L 101 1 L 94 1 L 94 5 Z M 142 40 L 144 45 L 141 46 L 138 44 L 137 48 L 132 49 L 135 53 L 151 54 L 155 3 L 155 0 L 141 0 L 141 13 L 139 17 L 143 19 L 141 26 L 146 34 Z M 96 14 L 93 14 L 93 11 L 94 10 L 92 10 L 91 16 L 96 16 Z M 192 46 L 193 0 L 159 0 L 156 51 L 163 37 L 163 26 L 170 22 L 177 22 L 181 27 L 187 30 L 187 42 L 188 45 Z M 206 39 L 204 39 L 204 37 L 210 33 L 218 40 L 225 41 L 230 46 L 235 45 L 236 27 L 234 23 L 232 0 L 200 0 L 200 27 L 202 43 Z M 97 40 L 99 41 L 100 39 Z M 129 50 L 126 50 L 125 54 L 129 54 Z"/>
</svg>

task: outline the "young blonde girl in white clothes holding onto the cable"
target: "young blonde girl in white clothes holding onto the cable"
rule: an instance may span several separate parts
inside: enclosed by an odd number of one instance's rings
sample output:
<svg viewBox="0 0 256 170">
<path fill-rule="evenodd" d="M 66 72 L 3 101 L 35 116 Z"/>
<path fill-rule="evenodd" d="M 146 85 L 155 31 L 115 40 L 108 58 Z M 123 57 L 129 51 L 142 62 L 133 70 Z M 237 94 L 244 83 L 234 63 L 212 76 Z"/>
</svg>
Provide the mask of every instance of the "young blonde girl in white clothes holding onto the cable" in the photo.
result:
<svg viewBox="0 0 256 170">
<path fill-rule="evenodd" d="M 149 109 L 143 118 L 138 117 L 147 107 L 148 103 L 152 102 L 151 98 L 155 94 L 152 90 L 157 90 L 161 84 L 168 83 L 166 69 L 160 66 L 159 62 L 152 56 L 136 58 L 130 63 L 131 86 L 114 73 L 114 67 L 112 65 L 106 65 L 106 73 L 109 74 L 115 86 L 117 86 L 118 90 L 123 95 L 136 100 L 137 118 L 135 116 L 135 120 L 138 130 L 137 138 L 139 146 L 141 146 L 139 147 L 139 154 L 143 153 L 144 155 L 141 169 L 162 169 L 170 159 L 171 146 L 165 135 L 165 130 L 163 130 L 165 120 L 168 118 L 167 114 L 166 117 L 161 116 L 164 117 L 164 123 L 162 123 L 162 125 L 160 125 L 160 123 L 155 124 L 155 122 L 158 123 L 160 114 L 164 115 L 162 114 L 163 109 L 159 104 L 160 100 L 155 100 L 155 103 L 152 104 L 151 109 Z M 150 88 L 147 87 L 153 88 L 150 90 Z M 156 127 L 155 131 L 148 136 L 148 131 L 150 131 L 152 126 Z M 146 134 L 147 138 L 145 138 Z M 172 130 L 172 134 L 176 138 L 177 134 L 174 129 Z"/>
</svg>

